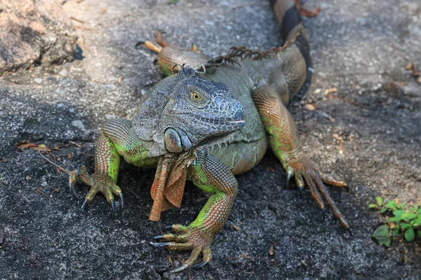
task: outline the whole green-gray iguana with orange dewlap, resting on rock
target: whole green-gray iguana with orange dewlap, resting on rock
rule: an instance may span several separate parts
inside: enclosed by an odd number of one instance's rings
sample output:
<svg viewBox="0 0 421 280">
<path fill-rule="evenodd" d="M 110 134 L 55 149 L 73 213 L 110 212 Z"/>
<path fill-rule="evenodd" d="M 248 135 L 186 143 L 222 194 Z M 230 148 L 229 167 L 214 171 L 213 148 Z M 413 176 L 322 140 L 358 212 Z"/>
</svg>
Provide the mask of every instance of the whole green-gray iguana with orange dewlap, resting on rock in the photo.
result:
<svg viewBox="0 0 421 280">
<path fill-rule="evenodd" d="M 114 195 L 121 156 L 138 167 L 156 167 L 149 216 L 159 221 L 161 211 L 180 207 L 185 181 L 211 196 L 190 225 L 171 225 L 175 232 L 154 237 L 173 250 L 192 250 L 188 260 L 172 272 L 203 267 L 212 259 L 215 235 L 224 227 L 239 192 L 236 174 L 258 165 L 267 149 L 272 150 L 302 190 L 305 183 L 324 211 L 330 205 L 340 224 L 345 217 L 330 197 L 324 183 L 347 186 L 317 169 L 307 158 L 298 138 L 287 102 L 304 92 L 312 76 L 307 33 L 293 1 L 272 1 L 285 44 L 263 52 L 231 48 L 227 55 L 209 59 L 196 50 L 182 50 L 160 36 L 160 45 L 146 42 L 159 52 L 158 62 L 171 74 L 147 92 L 133 121 L 108 120 L 96 143 L 95 173 L 79 165 L 70 172 L 69 186 L 76 179 L 91 186 L 81 210 L 100 192 L 115 211 Z M 188 66 L 187 66 L 188 64 Z M 175 65 L 178 65 L 174 67 Z M 221 145 L 223 144 L 223 145 Z M 323 212 L 324 215 L 324 212 Z M 194 262 L 203 253 L 203 261 Z"/>
</svg>

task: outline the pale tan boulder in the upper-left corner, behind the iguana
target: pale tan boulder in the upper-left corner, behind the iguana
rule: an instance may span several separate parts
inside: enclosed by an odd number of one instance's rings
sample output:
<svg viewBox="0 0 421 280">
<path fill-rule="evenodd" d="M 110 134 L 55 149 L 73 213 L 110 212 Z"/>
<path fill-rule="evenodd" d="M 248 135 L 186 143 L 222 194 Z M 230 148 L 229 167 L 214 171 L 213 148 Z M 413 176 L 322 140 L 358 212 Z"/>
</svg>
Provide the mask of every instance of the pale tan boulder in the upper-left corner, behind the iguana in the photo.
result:
<svg viewBox="0 0 421 280">
<path fill-rule="evenodd" d="M 76 30 L 56 0 L 0 0 L 0 76 L 73 60 Z"/>
</svg>

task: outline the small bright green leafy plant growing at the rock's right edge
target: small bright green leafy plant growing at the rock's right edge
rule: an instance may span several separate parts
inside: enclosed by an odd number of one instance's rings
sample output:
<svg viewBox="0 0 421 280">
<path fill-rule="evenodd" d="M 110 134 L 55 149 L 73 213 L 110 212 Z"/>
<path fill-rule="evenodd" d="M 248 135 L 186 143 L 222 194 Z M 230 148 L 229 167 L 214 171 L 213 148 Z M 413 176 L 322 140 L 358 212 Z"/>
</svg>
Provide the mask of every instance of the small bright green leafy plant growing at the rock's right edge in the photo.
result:
<svg viewBox="0 0 421 280">
<path fill-rule="evenodd" d="M 415 238 L 415 231 L 421 237 L 421 204 L 408 207 L 405 203 L 399 204 L 394 200 L 389 200 L 383 204 L 381 197 L 376 197 L 376 204 L 368 205 L 369 208 L 378 209 L 381 214 L 393 214 L 386 216 L 386 224 L 377 227 L 372 237 L 379 245 L 391 246 L 392 238 L 396 239 L 400 234 L 405 236 L 406 241 Z M 390 235 L 392 232 L 392 235 Z"/>
</svg>

